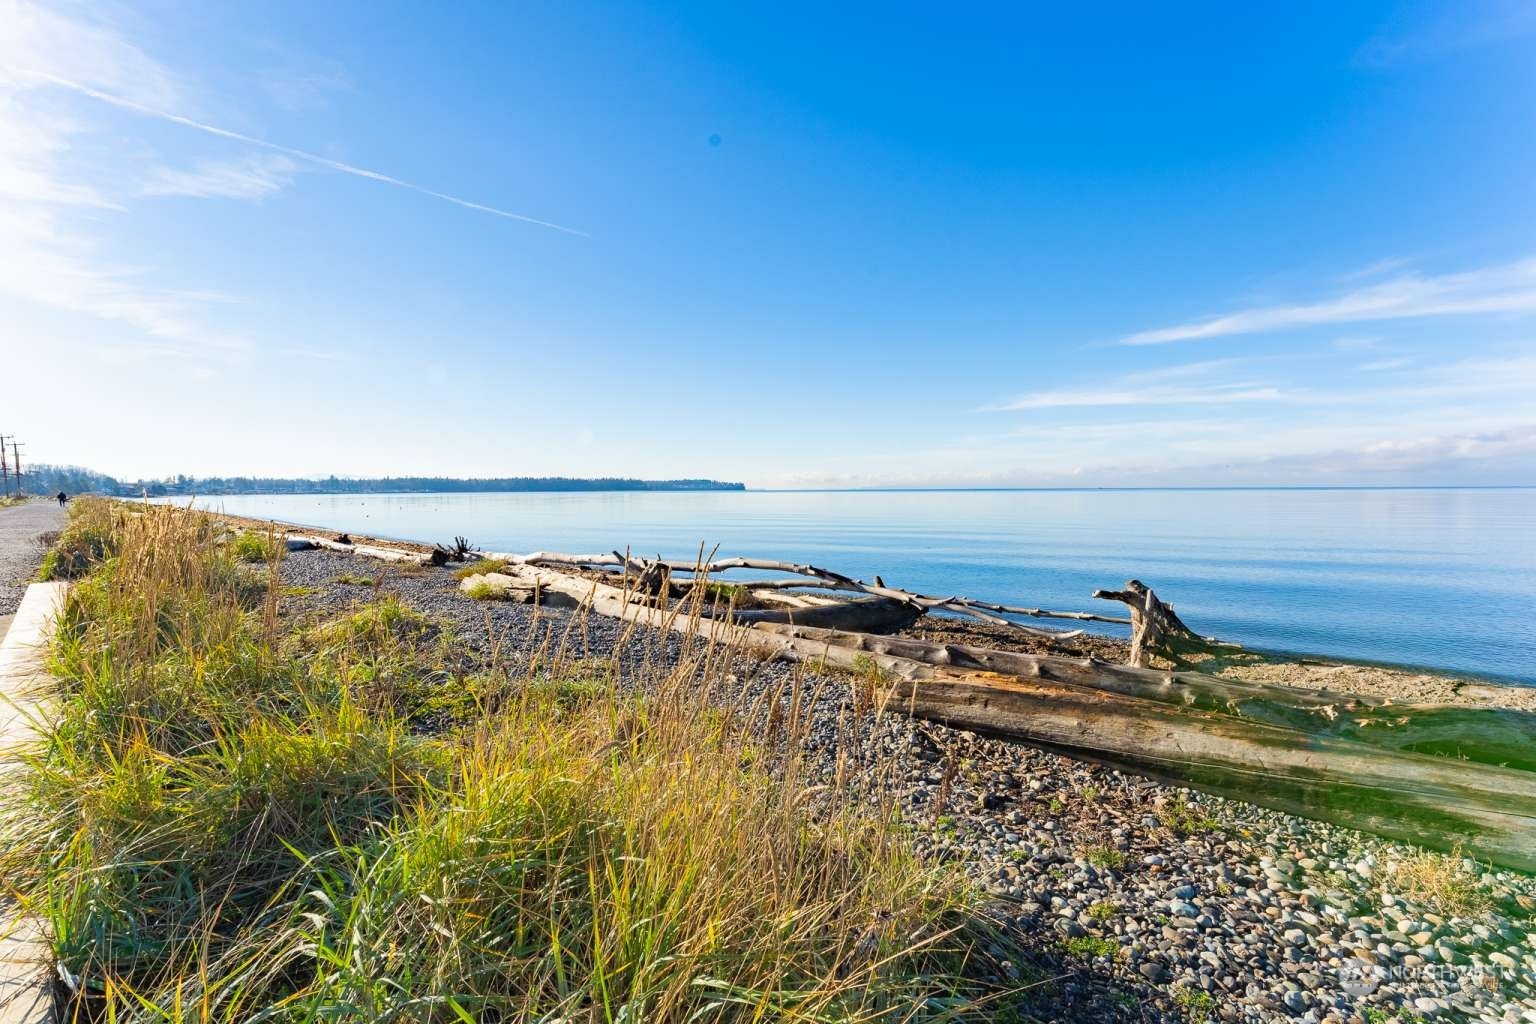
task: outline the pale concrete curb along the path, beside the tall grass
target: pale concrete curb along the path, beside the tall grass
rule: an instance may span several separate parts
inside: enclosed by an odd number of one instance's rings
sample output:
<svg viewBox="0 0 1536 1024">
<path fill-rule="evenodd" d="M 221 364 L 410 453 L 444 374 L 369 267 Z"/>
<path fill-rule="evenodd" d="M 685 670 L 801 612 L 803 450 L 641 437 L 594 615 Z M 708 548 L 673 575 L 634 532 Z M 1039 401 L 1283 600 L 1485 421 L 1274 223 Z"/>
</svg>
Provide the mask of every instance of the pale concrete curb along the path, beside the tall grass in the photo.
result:
<svg viewBox="0 0 1536 1024">
<path fill-rule="evenodd" d="M 37 738 L 32 720 L 49 689 L 43 657 L 68 588 L 28 586 L 0 640 L 0 774 L 15 771 L 18 754 Z M 0 1024 L 51 1024 L 52 950 L 38 923 L 14 910 L 0 906 Z"/>
</svg>

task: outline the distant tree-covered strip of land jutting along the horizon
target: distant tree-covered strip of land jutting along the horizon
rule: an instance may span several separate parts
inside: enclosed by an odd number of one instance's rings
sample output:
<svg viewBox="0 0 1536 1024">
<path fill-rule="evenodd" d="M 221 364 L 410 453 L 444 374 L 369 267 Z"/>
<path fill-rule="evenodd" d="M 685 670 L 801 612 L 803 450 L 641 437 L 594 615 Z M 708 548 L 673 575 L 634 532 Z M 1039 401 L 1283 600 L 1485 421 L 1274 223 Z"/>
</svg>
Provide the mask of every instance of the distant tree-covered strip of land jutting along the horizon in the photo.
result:
<svg viewBox="0 0 1536 1024">
<path fill-rule="evenodd" d="M 158 481 L 120 481 L 75 465 L 26 467 L 25 487 L 32 494 L 429 494 L 464 491 L 745 491 L 745 484 L 723 481 L 636 481 L 624 476 L 167 476 Z"/>
</svg>

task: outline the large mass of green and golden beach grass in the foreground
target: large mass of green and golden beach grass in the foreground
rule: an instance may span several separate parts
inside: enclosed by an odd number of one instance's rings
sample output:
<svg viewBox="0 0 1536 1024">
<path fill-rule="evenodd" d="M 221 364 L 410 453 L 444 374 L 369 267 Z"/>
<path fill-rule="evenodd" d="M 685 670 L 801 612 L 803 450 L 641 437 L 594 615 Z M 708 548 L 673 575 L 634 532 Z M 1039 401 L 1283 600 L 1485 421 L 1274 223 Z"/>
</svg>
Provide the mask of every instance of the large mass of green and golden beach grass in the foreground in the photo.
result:
<svg viewBox="0 0 1536 1024">
<path fill-rule="evenodd" d="M 386 599 L 287 629 L 275 563 L 112 517 L 0 877 L 112 1021 L 994 1019 L 1009 947 L 952 869 L 702 703 L 455 676 Z M 814 809 L 813 809 L 814 806 Z M 1015 960 L 1017 963 L 1017 960 Z"/>
</svg>

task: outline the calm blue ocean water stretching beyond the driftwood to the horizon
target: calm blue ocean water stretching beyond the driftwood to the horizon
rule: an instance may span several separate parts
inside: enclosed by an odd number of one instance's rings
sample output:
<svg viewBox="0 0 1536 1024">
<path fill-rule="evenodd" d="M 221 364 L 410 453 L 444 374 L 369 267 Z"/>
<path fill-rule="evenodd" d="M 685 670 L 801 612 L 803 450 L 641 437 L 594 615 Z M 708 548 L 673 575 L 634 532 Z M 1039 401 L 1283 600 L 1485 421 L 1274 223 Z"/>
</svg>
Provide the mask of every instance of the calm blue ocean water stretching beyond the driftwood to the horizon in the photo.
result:
<svg viewBox="0 0 1536 1024">
<path fill-rule="evenodd" d="M 1536 685 L 1536 488 L 723 491 L 207 499 L 241 516 L 498 551 L 813 560 L 928 594 L 1118 614 L 1138 577 L 1255 648 Z M 1114 633 L 1115 626 L 1106 631 Z"/>
</svg>

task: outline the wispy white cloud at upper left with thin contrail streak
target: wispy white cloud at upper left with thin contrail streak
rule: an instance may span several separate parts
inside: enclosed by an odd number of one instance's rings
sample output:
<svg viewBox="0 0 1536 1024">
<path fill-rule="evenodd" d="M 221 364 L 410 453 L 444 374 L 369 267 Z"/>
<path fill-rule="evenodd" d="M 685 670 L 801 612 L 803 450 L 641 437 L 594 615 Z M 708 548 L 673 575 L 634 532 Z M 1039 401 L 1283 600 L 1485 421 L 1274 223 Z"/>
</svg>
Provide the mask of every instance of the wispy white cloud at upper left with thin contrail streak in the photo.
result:
<svg viewBox="0 0 1536 1024">
<path fill-rule="evenodd" d="M 197 91 L 131 43 L 114 12 L 88 2 L 52 8 L 0 0 L 0 316 L 55 310 L 94 318 L 123 329 L 95 335 L 131 359 L 206 358 L 210 350 L 233 358 L 253 342 L 232 327 L 238 321 L 212 313 L 210 304 L 229 296 L 166 282 L 157 267 L 114 255 L 103 216 L 144 195 L 260 200 L 312 166 L 544 224 L 207 124 L 194 117 Z M 241 143 L 247 154 L 152 166 L 147 150 L 124 146 L 114 111 L 184 124 Z M 97 158 L 108 144 L 111 160 Z"/>
</svg>

